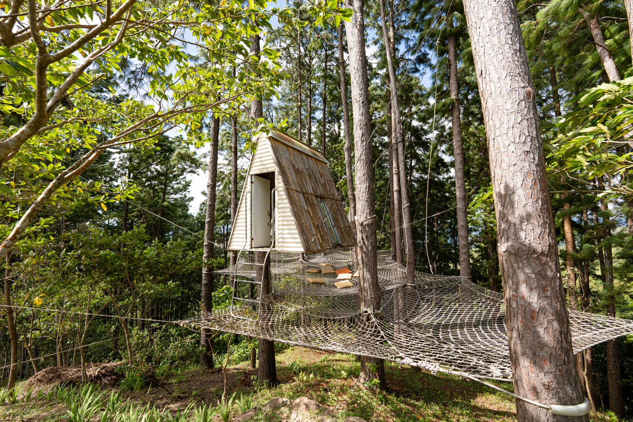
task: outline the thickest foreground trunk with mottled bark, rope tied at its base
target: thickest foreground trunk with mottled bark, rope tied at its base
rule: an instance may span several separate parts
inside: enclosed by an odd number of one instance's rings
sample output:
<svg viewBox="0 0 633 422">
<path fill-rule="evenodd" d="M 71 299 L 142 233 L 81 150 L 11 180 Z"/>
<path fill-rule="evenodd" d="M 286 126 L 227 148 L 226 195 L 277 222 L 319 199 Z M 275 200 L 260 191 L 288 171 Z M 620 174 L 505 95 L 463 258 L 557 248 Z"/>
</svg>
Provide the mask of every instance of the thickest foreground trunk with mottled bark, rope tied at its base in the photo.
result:
<svg viewBox="0 0 633 422">
<path fill-rule="evenodd" d="M 498 252 L 515 394 L 584 401 L 560 278 L 539 116 L 514 0 L 466 0 L 489 143 Z M 516 400 L 518 420 L 563 420 Z M 589 416 L 565 421 L 589 421 Z"/>
</svg>

